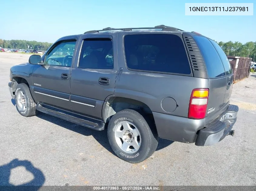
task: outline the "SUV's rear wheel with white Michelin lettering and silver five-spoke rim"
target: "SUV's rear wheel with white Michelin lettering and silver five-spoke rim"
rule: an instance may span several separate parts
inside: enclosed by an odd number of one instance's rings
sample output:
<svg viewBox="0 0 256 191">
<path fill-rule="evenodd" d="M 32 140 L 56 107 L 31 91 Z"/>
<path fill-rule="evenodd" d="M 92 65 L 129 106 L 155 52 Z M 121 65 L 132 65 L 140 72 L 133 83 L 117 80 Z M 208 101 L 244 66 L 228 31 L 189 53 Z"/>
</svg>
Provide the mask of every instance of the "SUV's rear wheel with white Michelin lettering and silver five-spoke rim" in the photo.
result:
<svg viewBox="0 0 256 191">
<path fill-rule="evenodd" d="M 108 123 L 109 144 L 122 160 L 142 162 L 155 152 L 158 145 L 157 132 L 154 126 L 151 127 L 137 111 L 121 110 Z"/>
</svg>

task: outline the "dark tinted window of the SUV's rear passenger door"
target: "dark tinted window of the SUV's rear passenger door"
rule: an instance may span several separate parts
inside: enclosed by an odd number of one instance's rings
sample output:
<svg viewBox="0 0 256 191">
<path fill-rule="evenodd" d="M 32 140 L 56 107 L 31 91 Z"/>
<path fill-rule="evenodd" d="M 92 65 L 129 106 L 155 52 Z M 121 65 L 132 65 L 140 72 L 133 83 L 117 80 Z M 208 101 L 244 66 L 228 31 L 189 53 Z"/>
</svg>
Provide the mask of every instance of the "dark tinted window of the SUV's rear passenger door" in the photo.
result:
<svg viewBox="0 0 256 191">
<path fill-rule="evenodd" d="M 78 68 L 113 69 L 113 43 L 108 38 L 85 39 Z"/>
</svg>

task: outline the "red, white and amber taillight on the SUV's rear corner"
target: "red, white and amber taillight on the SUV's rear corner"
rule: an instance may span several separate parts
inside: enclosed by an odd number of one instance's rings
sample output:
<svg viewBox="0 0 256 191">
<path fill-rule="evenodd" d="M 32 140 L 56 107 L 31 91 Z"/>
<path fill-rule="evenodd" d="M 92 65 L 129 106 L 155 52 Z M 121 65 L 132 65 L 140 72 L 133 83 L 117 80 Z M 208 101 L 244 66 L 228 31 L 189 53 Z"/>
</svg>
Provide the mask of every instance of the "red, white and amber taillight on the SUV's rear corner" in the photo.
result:
<svg viewBox="0 0 256 191">
<path fill-rule="evenodd" d="M 208 97 L 209 89 L 198 88 L 192 90 L 188 107 L 189 119 L 204 119 L 207 109 Z"/>
</svg>

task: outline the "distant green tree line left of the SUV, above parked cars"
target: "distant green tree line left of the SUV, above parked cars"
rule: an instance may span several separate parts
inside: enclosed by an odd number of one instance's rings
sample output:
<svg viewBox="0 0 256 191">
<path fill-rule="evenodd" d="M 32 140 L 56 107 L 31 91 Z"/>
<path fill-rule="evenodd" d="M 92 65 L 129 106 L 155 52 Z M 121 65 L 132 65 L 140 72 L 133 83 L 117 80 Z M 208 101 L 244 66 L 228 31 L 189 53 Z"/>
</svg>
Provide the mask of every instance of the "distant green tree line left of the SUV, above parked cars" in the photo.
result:
<svg viewBox="0 0 256 191">
<path fill-rule="evenodd" d="M 47 50 L 52 43 L 47 42 L 37 42 L 35 40 L 28 41 L 28 40 L 2 40 L 0 39 L 0 47 L 8 48 L 8 49 L 36 49 L 36 50 Z M 32 48 L 30 48 L 32 47 Z"/>
</svg>

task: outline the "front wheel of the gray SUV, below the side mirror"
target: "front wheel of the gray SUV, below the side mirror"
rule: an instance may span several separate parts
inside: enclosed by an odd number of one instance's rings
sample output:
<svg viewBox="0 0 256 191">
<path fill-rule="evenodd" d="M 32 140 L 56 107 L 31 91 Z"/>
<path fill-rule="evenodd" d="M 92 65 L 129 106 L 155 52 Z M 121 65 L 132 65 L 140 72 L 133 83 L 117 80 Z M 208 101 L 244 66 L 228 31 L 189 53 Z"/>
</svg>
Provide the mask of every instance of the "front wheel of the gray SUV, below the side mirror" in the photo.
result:
<svg viewBox="0 0 256 191">
<path fill-rule="evenodd" d="M 16 109 L 22 116 L 30 117 L 35 115 L 36 103 L 32 98 L 27 84 L 21 83 L 16 86 L 14 99 Z"/>
</svg>

